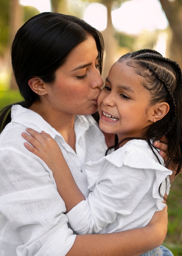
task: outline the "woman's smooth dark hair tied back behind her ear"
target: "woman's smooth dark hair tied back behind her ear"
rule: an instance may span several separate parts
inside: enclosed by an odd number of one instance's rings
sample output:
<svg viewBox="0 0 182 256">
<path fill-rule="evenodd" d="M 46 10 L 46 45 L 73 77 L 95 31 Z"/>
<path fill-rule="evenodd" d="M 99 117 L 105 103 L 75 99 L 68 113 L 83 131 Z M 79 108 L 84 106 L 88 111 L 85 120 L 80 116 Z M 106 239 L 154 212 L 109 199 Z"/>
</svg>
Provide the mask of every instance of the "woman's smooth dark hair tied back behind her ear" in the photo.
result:
<svg viewBox="0 0 182 256">
<path fill-rule="evenodd" d="M 28 85 L 29 79 L 38 76 L 44 82 L 52 83 L 55 71 L 64 64 L 72 49 L 85 41 L 89 34 L 96 42 L 101 73 L 103 36 L 85 21 L 75 16 L 45 12 L 32 17 L 20 27 L 11 48 L 13 72 L 24 97 L 24 101 L 19 104 L 29 108 L 38 101 L 39 96 Z M 0 113 L 0 130 L 11 120 L 11 106 Z"/>
</svg>

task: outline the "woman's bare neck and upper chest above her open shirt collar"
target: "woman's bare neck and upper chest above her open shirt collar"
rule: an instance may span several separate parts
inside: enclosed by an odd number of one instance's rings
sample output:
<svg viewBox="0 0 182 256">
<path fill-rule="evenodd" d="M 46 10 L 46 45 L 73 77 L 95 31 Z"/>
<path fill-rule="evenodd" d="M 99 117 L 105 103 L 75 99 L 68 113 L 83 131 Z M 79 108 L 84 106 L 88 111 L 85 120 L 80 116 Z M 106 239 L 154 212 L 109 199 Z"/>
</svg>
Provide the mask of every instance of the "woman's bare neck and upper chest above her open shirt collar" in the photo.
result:
<svg viewBox="0 0 182 256">
<path fill-rule="evenodd" d="M 75 150 L 75 115 L 56 111 L 50 106 L 42 107 L 41 103 L 33 103 L 29 109 L 39 114 L 48 124 L 55 128 L 64 137 L 66 143 Z"/>
</svg>

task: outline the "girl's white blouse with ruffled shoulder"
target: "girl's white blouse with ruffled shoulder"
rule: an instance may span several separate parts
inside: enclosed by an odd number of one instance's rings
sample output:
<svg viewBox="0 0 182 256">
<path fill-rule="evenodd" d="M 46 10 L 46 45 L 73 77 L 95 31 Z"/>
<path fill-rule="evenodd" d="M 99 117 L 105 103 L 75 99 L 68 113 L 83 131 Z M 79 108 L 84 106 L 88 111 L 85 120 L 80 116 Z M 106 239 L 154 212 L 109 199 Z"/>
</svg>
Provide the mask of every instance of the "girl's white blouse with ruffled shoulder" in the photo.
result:
<svg viewBox="0 0 182 256">
<path fill-rule="evenodd" d="M 147 141 L 137 139 L 98 162 L 88 162 L 86 172 L 92 192 L 66 214 L 71 227 L 79 234 L 93 234 L 146 226 L 155 211 L 165 207 L 159 194 L 161 183 L 161 194 L 169 193 L 172 171 L 162 164 Z"/>
</svg>

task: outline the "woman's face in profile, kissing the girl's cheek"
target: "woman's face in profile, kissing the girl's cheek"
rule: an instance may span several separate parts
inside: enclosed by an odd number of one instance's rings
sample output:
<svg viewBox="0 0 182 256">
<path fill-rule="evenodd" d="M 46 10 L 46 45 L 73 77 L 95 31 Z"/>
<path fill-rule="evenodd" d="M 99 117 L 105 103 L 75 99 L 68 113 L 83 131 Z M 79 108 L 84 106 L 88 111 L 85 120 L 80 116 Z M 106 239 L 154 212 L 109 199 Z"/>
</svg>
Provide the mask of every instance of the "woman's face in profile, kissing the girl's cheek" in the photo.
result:
<svg viewBox="0 0 182 256">
<path fill-rule="evenodd" d="M 45 97 L 50 108 L 66 115 L 90 115 L 96 112 L 103 79 L 92 36 L 72 50 L 55 76 L 53 85 L 46 86 Z"/>
</svg>

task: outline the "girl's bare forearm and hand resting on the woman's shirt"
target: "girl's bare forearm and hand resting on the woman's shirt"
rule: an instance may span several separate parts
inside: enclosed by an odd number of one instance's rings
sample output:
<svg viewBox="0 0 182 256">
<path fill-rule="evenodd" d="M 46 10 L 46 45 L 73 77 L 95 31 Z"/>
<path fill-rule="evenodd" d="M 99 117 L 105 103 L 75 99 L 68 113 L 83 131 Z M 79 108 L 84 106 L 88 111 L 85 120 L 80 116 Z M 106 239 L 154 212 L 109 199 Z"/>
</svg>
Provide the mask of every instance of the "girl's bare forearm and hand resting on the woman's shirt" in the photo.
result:
<svg viewBox="0 0 182 256">
<path fill-rule="evenodd" d="M 32 146 L 27 142 L 24 143 L 24 146 L 40 157 L 53 171 L 57 191 L 66 204 L 67 212 L 70 211 L 79 202 L 85 200 L 85 196 L 81 193 L 72 177 L 59 145 L 46 132 L 38 133 L 31 128 L 27 128 L 26 132 L 22 133 L 22 137 Z"/>
</svg>

